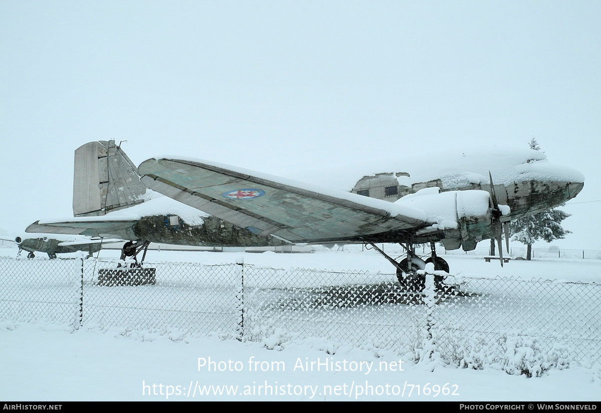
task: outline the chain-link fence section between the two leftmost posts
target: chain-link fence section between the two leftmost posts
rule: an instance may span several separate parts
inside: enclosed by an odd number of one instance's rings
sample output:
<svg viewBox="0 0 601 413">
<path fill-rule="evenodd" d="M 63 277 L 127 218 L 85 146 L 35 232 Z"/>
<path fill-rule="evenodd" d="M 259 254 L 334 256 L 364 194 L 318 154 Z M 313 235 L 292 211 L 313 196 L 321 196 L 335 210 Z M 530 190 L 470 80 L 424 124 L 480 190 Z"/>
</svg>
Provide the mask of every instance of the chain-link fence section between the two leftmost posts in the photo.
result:
<svg viewBox="0 0 601 413">
<path fill-rule="evenodd" d="M 242 337 L 242 266 L 156 263 L 144 265 L 154 269 L 148 280 L 144 269 L 117 265 L 84 261 L 84 325 Z M 138 274 L 139 285 L 127 285 Z"/>
</svg>

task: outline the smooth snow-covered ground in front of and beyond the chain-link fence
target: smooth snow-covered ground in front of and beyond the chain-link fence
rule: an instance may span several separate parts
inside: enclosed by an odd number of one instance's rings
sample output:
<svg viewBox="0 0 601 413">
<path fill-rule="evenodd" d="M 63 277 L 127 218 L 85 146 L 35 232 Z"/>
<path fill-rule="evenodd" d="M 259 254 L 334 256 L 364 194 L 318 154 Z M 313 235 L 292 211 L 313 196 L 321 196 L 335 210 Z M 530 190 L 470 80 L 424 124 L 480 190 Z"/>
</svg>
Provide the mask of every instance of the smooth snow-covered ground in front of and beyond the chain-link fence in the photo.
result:
<svg viewBox="0 0 601 413">
<path fill-rule="evenodd" d="M 0 255 L 15 254 L 15 249 L 0 250 Z M 214 264 L 232 263 L 242 258 L 245 263 L 273 268 L 391 272 L 386 260 L 371 251 L 361 252 L 360 246 L 347 247 L 344 252 L 314 254 L 175 251 L 149 254 L 147 259 L 155 262 Z M 117 255 L 117 251 L 100 252 L 100 257 Z M 511 261 L 501 269 L 498 262 L 485 263 L 476 257 L 448 255 L 445 259 L 455 274 L 601 281 L 599 260 Z M 262 343 L 224 341 L 216 337 L 173 341 L 167 335 L 126 337 L 120 332 L 118 328 L 73 331 L 63 325 L 2 322 L 0 399 L 601 399 L 599 365 L 592 369 L 549 370 L 540 378 L 526 378 L 491 369 L 456 369 L 433 362 L 413 364 L 393 353 L 383 353 L 376 358 L 365 349 L 342 349 L 332 355 L 310 341 L 289 343 L 278 351 L 268 350 Z M 388 371 L 383 371 L 385 369 Z M 227 394 L 228 390 L 231 394 Z M 209 396 L 201 395 L 206 391 L 210 392 Z M 214 391 L 222 394 L 213 394 Z"/>
</svg>

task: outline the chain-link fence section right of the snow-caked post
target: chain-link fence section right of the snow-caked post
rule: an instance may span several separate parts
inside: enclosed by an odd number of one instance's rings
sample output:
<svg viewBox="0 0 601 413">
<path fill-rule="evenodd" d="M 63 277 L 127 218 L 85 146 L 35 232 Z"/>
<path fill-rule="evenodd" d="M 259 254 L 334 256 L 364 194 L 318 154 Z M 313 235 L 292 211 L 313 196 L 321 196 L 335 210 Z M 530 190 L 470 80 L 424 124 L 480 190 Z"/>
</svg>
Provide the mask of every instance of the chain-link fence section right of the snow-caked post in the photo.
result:
<svg viewBox="0 0 601 413">
<path fill-rule="evenodd" d="M 601 285 L 517 278 L 456 278 L 433 306 L 436 350 L 448 363 L 540 375 L 601 360 Z"/>
</svg>

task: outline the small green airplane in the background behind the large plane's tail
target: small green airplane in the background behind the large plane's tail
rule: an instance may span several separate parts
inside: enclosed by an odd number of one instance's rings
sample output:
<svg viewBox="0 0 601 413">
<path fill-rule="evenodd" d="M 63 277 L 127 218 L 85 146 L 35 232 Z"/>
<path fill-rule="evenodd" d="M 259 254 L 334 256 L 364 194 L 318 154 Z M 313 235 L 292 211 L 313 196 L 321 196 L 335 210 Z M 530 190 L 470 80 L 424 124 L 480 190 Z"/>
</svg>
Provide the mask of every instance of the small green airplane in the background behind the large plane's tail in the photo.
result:
<svg viewBox="0 0 601 413">
<path fill-rule="evenodd" d="M 69 252 L 87 251 L 88 257 L 91 257 L 94 252 L 100 251 L 102 245 L 107 243 L 123 242 L 117 239 L 93 239 L 86 236 L 78 235 L 61 235 L 53 234 L 27 234 L 17 236 L 14 239 L 0 237 L 5 241 L 14 241 L 19 246 L 21 251 L 28 251 L 27 258 L 34 258 L 34 252 L 46 252 L 49 259 L 55 259 L 56 254 L 67 254 Z"/>
</svg>

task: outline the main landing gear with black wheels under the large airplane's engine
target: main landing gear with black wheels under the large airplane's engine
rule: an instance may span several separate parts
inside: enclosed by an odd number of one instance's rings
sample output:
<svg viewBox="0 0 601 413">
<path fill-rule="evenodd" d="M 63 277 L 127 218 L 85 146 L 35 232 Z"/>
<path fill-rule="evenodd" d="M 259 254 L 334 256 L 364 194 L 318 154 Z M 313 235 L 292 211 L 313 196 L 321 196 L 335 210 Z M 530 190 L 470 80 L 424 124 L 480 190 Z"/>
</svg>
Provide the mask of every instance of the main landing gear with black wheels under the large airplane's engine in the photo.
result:
<svg viewBox="0 0 601 413">
<path fill-rule="evenodd" d="M 426 268 L 426 264 L 434 263 L 434 271 L 449 272 L 448 263 L 436 255 L 436 245 L 434 242 L 430 242 L 430 257 L 425 261 L 415 254 L 413 244 L 411 243 L 400 243 L 400 245 L 407 252 L 407 257 L 400 262 L 397 262 L 396 260 L 392 259 L 392 257 L 389 257 L 389 255 L 386 255 L 385 252 L 378 248 L 374 243 L 370 242 L 369 245 L 376 249 L 376 251 L 380 252 L 383 257 L 385 257 L 389 262 L 392 263 L 392 265 L 395 266 L 397 269 L 398 282 L 406 290 L 422 291 L 424 287 L 426 287 L 426 275 L 423 273 L 418 274 L 419 270 Z M 444 275 L 434 275 L 434 284 L 436 290 L 444 290 L 444 280 Z"/>
</svg>

